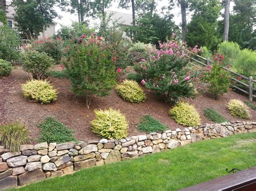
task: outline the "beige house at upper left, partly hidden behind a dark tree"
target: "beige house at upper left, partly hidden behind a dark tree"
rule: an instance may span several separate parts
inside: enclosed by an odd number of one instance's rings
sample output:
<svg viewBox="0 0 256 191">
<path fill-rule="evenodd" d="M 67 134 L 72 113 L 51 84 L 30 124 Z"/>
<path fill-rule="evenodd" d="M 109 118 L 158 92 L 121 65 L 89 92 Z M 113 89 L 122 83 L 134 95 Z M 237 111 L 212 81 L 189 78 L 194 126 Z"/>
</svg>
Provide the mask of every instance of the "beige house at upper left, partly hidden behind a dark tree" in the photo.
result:
<svg viewBox="0 0 256 191">
<path fill-rule="evenodd" d="M 10 4 L 11 4 L 11 2 L 6 1 L 6 5 L 10 5 Z M 14 10 L 14 7 L 13 6 L 7 6 L 6 11 L 7 11 L 6 18 L 7 18 L 8 25 L 10 26 L 11 29 L 14 29 L 15 28 L 15 20 L 14 20 L 15 10 Z M 53 36 L 53 34 L 55 34 L 56 25 L 57 25 L 56 22 L 51 23 L 49 25 L 49 27 L 47 27 L 43 31 L 43 33 L 39 34 L 38 38 L 49 38 L 49 37 Z"/>
</svg>

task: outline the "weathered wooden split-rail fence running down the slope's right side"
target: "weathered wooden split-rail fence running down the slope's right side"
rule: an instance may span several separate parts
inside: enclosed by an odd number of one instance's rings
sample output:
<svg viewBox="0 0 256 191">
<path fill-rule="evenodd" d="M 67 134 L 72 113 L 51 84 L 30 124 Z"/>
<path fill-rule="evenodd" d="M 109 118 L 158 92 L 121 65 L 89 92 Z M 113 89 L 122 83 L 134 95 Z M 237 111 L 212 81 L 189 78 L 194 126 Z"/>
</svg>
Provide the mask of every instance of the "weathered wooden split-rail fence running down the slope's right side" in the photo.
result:
<svg viewBox="0 0 256 191">
<path fill-rule="evenodd" d="M 200 61 L 198 59 L 201 59 L 203 61 Z M 196 55 L 196 58 L 191 58 L 191 60 L 193 60 L 197 63 L 200 63 L 200 65 L 203 65 L 203 66 L 208 66 L 208 65 L 211 65 L 211 63 L 213 63 L 209 58 L 204 58 L 203 56 L 199 56 L 199 55 Z M 243 93 L 249 95 L 250 101 L 253 100 L 253 97 L 256 98 L 256 95 L 253 95 L 253 90 L 254 91 L 256 90 L 256 88 L 253 87 L 253 82 L 256 82 L 256 80 L 253 80 L 252 76 L 250 76 L 250 77 L 243 76 L 241 74 L 233 72 L 232 70 L 230 70 L 226 67 L 223 67 L 223 69 L 227 70 L 228 72 L 232 73 L 233 75 L 241 77 L 241 79 L 244 79 L 245 81 L 248 81 L 248 83 L 245 83 L 238 79 L 235 79 L 234 77 L 231 77 L 231 79 L 234 80 L 235 82 L 241 84 L 242 86 L 247 87 L 249 91 L 246 91 L 238 86 L 235 86 L 235 84 L 233 84 L 233 88 L 238 89 L 239 91 L 242 91 Z"/>
</svg>

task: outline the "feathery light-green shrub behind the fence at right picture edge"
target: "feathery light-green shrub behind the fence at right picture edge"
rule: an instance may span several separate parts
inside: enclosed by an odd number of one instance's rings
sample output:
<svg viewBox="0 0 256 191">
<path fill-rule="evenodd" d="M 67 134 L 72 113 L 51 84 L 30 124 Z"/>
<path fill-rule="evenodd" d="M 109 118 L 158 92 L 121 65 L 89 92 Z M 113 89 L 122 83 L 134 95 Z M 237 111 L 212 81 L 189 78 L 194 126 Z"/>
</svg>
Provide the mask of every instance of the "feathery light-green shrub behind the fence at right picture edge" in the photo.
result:
<svg viewBox="0 0 256 191">
<path fill-rule="evenodd" d="M 237 58 L 234 61 L 233 68 L 238 73 L 256 79 L 256 52 L 250 49 L 243 49 L 238 53 Z"/>
</svg>

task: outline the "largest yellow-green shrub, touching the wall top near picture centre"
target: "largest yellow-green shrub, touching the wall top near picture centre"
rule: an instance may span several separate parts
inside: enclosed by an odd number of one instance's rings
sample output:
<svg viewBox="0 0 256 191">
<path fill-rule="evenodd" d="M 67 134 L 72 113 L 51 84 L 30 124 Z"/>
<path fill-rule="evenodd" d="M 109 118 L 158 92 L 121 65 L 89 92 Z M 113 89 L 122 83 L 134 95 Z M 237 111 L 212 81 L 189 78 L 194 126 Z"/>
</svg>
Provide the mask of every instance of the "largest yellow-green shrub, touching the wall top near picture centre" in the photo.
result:
<svg viewBox="0 0 256 191">
<path fill-rule="evenodd" d="M 96 119 L 91 121 L 92 131 L 98 136 L 108 139 L 127 137 L 128 123 L 119 110 L 95 110 Z"/>
</svg>

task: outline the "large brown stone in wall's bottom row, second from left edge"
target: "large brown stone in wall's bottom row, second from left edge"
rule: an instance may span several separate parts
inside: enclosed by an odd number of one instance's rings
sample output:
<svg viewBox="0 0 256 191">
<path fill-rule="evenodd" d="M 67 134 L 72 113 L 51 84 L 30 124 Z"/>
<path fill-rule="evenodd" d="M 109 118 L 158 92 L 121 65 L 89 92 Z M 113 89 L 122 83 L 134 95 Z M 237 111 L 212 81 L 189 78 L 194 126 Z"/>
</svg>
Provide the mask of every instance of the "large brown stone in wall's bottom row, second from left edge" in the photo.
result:
<svg viewBox="0 0 256 191">
<path fill-rule="evenodd" d="M 25 172 L 18 175 L 18 185 L 23 186 L 31 182 L 45 179 L 45 174 L 42 169 L 36 169 L 35 171 Z"/>
</svg>

